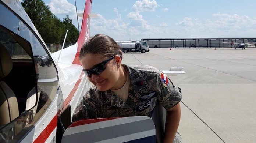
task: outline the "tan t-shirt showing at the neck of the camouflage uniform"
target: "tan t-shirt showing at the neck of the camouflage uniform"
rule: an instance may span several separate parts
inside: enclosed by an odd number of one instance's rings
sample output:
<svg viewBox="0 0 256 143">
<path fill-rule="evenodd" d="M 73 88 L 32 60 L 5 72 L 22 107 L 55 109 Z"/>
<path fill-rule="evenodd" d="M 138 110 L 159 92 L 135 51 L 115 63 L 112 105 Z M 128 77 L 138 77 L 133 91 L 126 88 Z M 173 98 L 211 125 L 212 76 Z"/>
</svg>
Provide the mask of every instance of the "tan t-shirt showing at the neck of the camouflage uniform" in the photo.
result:
<svg viewBox="0 0 256 143">
<path fill-rule="evenodd" d="M 127 74 L 127 79 L 124 85 L 120 89 L 111 90 L 113 91 L 122 101 L 126 102 L 128 98 L 128 90 L 130 85 L 130 78 Z"/>
</svg>

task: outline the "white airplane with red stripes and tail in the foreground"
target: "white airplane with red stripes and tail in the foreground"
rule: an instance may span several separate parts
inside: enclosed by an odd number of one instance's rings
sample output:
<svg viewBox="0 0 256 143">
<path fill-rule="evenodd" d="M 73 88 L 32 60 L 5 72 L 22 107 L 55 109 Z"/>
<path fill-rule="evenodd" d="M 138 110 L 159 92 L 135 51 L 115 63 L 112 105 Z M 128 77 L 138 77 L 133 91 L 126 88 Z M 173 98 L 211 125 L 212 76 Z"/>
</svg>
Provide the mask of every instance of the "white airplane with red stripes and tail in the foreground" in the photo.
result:
<svg viewBox="0 0 256 143">
<path fill-rule="evenodd" d="M 79 52 L 89 38 L 91 5 L 86 0 L 77 43 L 51 53 L 21 3 L 0 0 L 0 142 L 155 142 L 156 133 L 157 138 L 163 137 L 164 113 L 156 118 L 90 119 L 71 124 L 90 85 Z M 185 73 L 177 67 L 168 74 L 177 71 Z M 164 112 L 161 107 L 159 111 Z M 155 121 L 159 130 L 153 120 L 159 120 Z"/>
</svg>

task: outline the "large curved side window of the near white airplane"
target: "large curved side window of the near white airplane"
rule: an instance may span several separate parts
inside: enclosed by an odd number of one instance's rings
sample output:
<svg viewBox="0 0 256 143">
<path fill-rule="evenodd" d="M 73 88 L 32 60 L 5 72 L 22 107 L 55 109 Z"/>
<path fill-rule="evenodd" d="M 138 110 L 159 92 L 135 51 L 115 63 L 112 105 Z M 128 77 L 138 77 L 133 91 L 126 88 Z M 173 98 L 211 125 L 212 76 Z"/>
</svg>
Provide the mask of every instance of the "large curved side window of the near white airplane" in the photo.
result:
<svg viewBox="0 0 256 143">
<path fill-rule="evenodd" d="M 58 77 L 39 37 L 3 4 L 0 4 L 0 13 L 0 48 L 7 50 L 12 63 L 10 73 L 1 76 L 0 81 L 10 87 L 18 104 L 17 116 L 4 123 L 1 117 L 9 111 L 0 110 L 0 142 L 17 142 L 56 98 Z"/>
</svg>

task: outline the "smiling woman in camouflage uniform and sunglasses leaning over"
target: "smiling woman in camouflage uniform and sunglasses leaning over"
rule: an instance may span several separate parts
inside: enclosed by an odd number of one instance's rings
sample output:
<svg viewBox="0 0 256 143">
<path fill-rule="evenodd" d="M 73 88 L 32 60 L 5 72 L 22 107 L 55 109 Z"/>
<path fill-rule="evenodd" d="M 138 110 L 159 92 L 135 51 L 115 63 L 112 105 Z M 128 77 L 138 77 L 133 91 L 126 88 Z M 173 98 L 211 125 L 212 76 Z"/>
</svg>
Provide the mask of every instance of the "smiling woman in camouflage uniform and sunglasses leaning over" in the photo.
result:
<svg viewBox="0 0 256 143">
<path fill-rule="evenodd" d="M 181 116 L 181 89 L 154 67 L 131 67 L 121 64 L 121 60 L 122 50 L 113 38 L 97 34 L 85 42 L 80 51 L 80 61 L 85 75 L 95 86 L 88 90 L 77 106 L 73 121 L 150 117 L 158 102 L 167 110 L 164 142 L 172 142 Z"/>
</svg>

